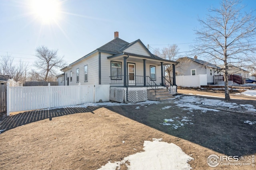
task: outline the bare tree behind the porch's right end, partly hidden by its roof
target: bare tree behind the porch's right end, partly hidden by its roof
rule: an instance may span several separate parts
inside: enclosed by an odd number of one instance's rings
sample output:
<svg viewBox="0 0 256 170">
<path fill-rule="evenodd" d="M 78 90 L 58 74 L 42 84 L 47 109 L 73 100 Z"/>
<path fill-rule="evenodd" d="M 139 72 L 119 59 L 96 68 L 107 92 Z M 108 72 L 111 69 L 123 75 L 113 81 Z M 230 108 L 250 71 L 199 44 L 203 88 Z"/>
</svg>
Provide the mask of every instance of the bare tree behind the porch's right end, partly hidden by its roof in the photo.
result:
<svg viewBox="0 0 256 170">
<path fill-rule="evenodd" d="M 164 47 L 163 49 L 154 49 L 153 53 L 158 57 L 166 60 L 176 61 L 178 59 L 177 54 L 179 52 L 178 45 L 168 45 L 168 47 Z M 169 79 L 171 80 L 171 72 L 172 72 L 172 65 L 165 65 L 164 70 L 168 74 Z"/>
</svg>

